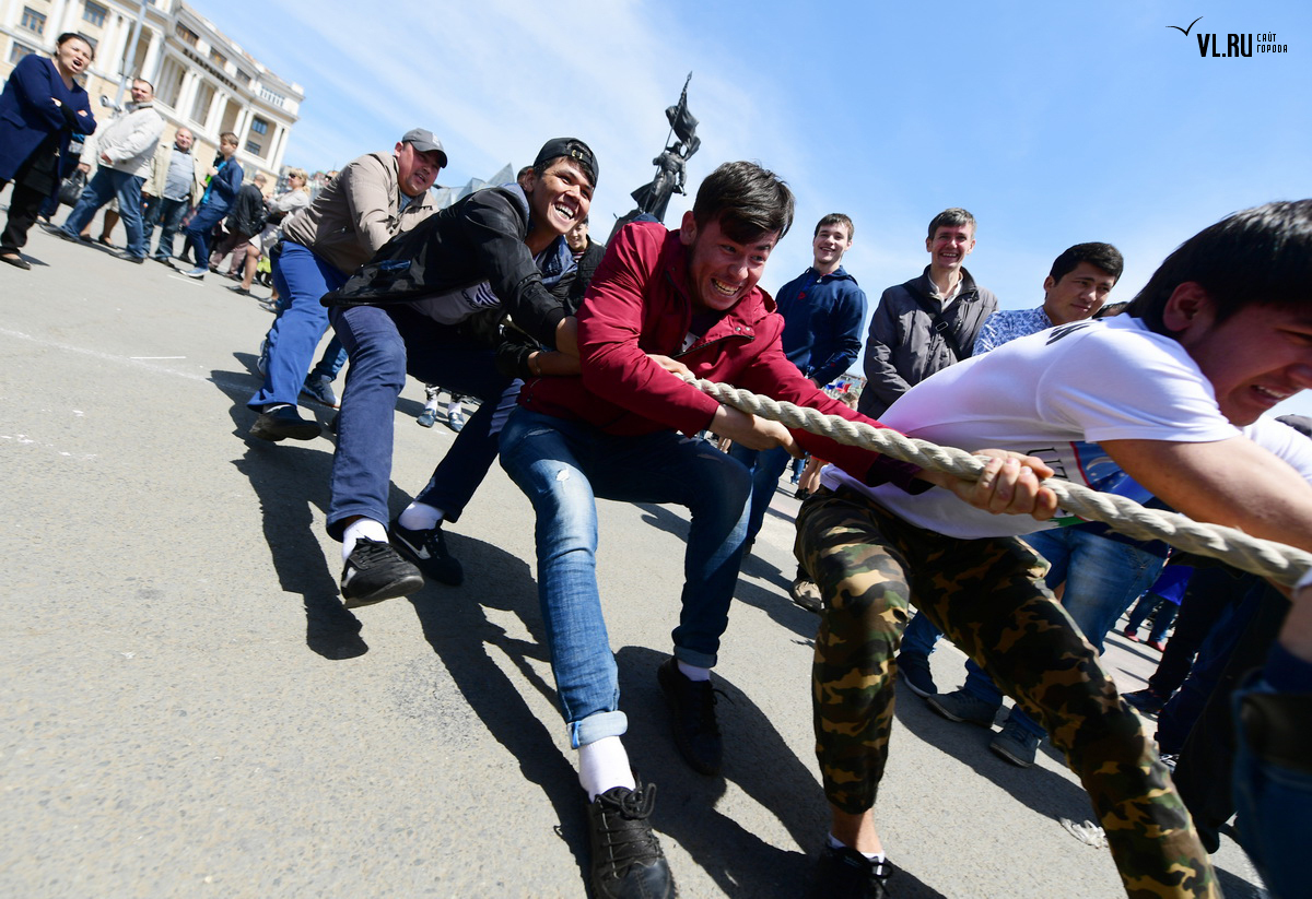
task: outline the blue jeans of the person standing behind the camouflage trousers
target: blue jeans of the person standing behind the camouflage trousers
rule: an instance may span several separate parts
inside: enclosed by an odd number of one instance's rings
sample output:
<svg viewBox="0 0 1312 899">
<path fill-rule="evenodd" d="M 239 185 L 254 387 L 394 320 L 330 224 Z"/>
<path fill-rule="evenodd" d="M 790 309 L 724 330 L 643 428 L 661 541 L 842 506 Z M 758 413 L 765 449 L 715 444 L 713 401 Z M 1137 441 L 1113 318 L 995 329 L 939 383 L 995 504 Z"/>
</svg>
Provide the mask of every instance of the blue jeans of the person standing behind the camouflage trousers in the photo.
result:
<svg viewBox="0 0 1312 899">
<path fill-rule="evenodd" d="M 1096 650 L 1130 603 L 1157 581 L 1166 560 L 1136 546 L 1078 528 L 1039 531 L 1023 537 L 1034 552 L 1047 560 L 1044 582 L 1050 590 L 1065 583 L 1061 605 Z M 1002 705 L 1000 691 L 984 671 L 966 662 L 966 689 L 979 698 Z M 1009 721 L 1036 736 L 1039 726 L 1021 706 L 1013 706 Z"/>
</svg>

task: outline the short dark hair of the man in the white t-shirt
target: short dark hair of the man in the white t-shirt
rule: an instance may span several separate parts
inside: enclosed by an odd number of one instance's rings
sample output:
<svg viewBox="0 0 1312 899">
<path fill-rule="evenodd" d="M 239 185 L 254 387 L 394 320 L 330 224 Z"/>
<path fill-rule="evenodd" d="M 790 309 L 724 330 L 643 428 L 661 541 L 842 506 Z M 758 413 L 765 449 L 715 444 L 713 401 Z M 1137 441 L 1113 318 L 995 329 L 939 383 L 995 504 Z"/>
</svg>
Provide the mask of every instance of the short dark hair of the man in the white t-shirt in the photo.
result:
<svg viewBox="0 0 1312 899">
<path fill-rule="evenodd" d="M 1199 284 L 1220 324 L 1249 305 L 1307 308 L 1312 292 L 1312 199 L 1257 206 L 1198 232 L 1166 257 L 1126 315 L 1169 333 L 1162 313 L 1183 283 Z"/>
</svg>

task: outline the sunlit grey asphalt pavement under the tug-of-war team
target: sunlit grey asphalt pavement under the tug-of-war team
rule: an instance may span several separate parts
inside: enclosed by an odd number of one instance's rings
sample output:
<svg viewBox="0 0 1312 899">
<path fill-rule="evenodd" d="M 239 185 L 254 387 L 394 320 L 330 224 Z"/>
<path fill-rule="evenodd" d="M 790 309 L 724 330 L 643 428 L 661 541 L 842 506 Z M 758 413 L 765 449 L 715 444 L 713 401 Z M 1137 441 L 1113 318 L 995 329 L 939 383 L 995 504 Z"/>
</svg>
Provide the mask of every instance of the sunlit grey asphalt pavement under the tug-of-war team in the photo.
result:
<svg viewBox="0 0 1312 899">
<path fill-rule="evenodd" d="M 227 279 L 39 229 L 28 256 L 0 266 L 0 895 L 586 895 L 531 511 L 500 468 L 449 527 L 463 586 L 346 611 L 323 527 L 332 442 L 245 438 L 272 316 Z M 416 426 L 422 397 L 411 381 L 398 404 L 394 511 L 454 438 Z M 825 835 L 817 619 L 786 595 L 796 507 L 775 495 L 744 565 L 715 670 L 724 775 L 705 777 L 656 685 L 684 510 L 601 503 L 626 744 L 685 899 L 799 896 Z M 1122 688 L 1141 687 L 1158 654 L 1110 646 Z M 962 660 L 935 653 L 941 688 Z M 1060 759 L 1022 771 L 988 739 L 899 687 L 876 806 L 892 894 L 1123 895 L 1110 854 L 1063 824 L 1093 815 Z M 1258 895 L 1228 837 L 1215 861 L 1227 896 Z"/>
</svg>

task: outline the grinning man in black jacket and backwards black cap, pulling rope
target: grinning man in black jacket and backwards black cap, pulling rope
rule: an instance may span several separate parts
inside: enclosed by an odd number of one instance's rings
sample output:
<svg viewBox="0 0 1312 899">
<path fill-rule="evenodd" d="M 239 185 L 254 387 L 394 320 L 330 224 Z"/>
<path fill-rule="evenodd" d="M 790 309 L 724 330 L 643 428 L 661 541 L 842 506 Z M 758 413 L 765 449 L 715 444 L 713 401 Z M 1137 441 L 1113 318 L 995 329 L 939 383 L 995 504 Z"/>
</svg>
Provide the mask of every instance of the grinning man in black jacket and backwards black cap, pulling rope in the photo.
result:
<svg viewBox="0 0 1312 899">
<path fill-rule="evenodd" d="M 588 144 L 548 140 L 522 186 L 470 194 L 398 236 L 323 297 L 352 366 L 328 507 L 328 533 L 342 541 L 349 608 L 415 592 L 424 586 L 420 569 L 442 583 L 463 579 L 442 522 L 459 519 L 487 474 L 497 451 L 497 408 L 513 405 L 518 393 L 513 376 L 497 370 L 496 329 L 484 326 L 479 337 L 471 325 L 489 318 L 495 325 L 509 313 L 520 329 L 556 347 L 529 355 L 525 377 L 579 371 L 573 318 L 563 301 L 575 270 L 564 235 L 588 218 L 596 183 Z M 392 418 L 407 373 L 483 405 L 388 528 Z"/>
</svg>

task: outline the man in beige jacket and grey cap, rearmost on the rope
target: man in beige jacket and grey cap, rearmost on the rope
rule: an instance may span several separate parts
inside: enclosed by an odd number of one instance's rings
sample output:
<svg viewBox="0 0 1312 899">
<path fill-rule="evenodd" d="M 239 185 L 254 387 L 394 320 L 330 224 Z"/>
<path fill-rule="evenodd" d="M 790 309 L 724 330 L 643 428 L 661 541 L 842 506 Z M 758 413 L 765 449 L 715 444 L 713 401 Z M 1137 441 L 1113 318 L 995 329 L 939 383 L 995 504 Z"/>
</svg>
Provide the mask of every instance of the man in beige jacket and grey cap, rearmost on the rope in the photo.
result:
<svg viewBox="0 0 1312 899">
<path fill-rule="evenodd" d="M 273 282 L 287 308 L 269 332 L 264 384 L 247 406 L 260 413 L 251 436 L 312 440 L 319 425 L 297 413 L 328 311 L 319 303 L 388 240 L 433 215 L 428 189 L 446 165 L 442 142 L 432 131 L 405 132 L 391 152 L 354 160 L 282 228 Z"/>
</svg>

